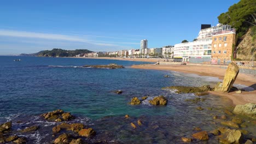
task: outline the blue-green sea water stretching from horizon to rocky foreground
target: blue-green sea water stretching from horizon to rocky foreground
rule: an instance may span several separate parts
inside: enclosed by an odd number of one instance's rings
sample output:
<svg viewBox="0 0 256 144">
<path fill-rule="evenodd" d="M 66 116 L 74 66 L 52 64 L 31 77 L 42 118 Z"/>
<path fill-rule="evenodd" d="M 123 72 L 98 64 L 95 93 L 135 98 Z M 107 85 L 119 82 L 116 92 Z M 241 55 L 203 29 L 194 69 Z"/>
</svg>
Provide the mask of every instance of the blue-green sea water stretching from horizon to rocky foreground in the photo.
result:
<svg viewBox="0 0 256 144">
<path fill-rule="evenodd" d="M 14 61 L 21 59 L 21 61 Z M 124 69 L 83 68 L 83 65 L 115 63 Z M 177 94 L 168 86 L 202 86 L 220 81 L 217 77 L 199 76 L 166 70 L 133 69 L 131 65 L 148 62 L 117 61 L 89 58 L 0 56 L 0 124 L 12 121 L 11 134 L 27 138 L 27 143 L 53 143 L 51 122 L 42 113 L 62 109 L 75 119 L 67 123 L 83 123 L 96 131 L 93 137 L 80 137 L 87 143 L 183 143 L 181 137 L 191 137 L 195 127 L 211 131 L 221 126 L 224 109 L 232 110 L 231 100 L 217 95 L 204 95 L 204 101 L 193 93 Z M 169 77 L 165 77 L 169 75 Z M 237 85 L 239 88 L 248 88 Z M 114 91 L 123 93 L 116 94 Z M 164 95 L 166 106 L 153 106 L 149 100 Z M 130 105 L 133 97 L 148 99 Z M 202 111 L 196 109 L 201 106 Z M 125 118 L 129 115 L 130 118 Z M 228 119 L 231 119 L 228 116 Z M 137 121 L 141 120 L 142 125 Z M 131 127 L 134 123 L 137 127 Z M 16 133 L 37 125 L 38 130 Z M 255 137 L 254 127 L 242 128 Z M 74 134 L 75 135 L 75 134 Z M 79 137 L 79 136 L 77 136 Z M 218 143 L 194 140 L 193 143 Z"/>
</svg>

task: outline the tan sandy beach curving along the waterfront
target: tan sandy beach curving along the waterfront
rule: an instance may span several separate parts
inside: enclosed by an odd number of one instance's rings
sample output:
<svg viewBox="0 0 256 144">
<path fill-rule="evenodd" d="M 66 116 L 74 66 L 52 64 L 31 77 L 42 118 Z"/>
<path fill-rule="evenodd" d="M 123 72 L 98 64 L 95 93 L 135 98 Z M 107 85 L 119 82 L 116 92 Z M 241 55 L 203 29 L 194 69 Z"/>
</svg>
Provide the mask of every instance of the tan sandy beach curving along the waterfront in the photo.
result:
<svg viewBox="0 0 256 144">
<path fill-rule="evenodd" d="M 97 59 L 115 59 L 120 61 L 141 61 L 141 62 L 153 62 L 164 61 L 164 59 L 148 59 L 148 58 L 97 58 Z M 179 71 L 182 73 L 197 74 L 200 76 L 213 76 L 218 77 L 223 80 L 225 76 L 226 69 L 219 68 L 216 65 L 179 65 L 179 64 L 142 64 L 142 65 L 132 65 L 135 69 L 155 69 L 155 70 L 171 70 Z M 234 105 L 246 104 L 246 103 L 256 103 L 256 77 L 254 75 L 239 73 L 235 81 L 236 84 L 245 85 L 254 88 L 254 91 L 249 92 L 210 92 L 214 95 L 219 95 L 223 97 L 228 97 L 233 101 Z"/>
</svg>

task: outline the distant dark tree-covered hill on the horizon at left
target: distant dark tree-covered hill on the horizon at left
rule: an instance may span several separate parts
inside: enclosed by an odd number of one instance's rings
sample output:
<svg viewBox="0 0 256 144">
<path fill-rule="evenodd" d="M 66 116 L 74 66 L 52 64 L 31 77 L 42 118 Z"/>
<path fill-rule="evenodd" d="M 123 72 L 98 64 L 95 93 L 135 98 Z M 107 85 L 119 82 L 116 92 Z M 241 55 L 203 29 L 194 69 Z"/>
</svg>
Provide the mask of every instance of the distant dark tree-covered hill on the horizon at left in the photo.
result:
<svg viewBox="0 0 256 144">
<path fill-rule="evenodd" d="M 37 53 L 25 54 L 21 53 L 20 56 L 38 56 L 38 57 L 74 57 L 75 55 L 83 55 L 85 53 L 90 53 L 89 50 L 62 50 L 62 49 L 53 49 L 39 51 Z"/>
</svg>

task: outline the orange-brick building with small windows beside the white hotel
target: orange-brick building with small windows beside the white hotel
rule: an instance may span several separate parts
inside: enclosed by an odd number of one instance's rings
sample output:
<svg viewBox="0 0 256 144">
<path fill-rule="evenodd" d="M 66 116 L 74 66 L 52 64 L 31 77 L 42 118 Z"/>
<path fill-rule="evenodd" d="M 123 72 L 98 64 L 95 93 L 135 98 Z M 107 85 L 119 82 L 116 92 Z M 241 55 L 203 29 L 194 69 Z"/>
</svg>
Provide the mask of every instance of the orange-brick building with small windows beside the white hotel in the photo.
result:
<svg viewBox="0 0 256 144">
<path fill-rule="evenodd" d="M 234 28 L 216 32 L 212 36 L 211 64 L 228 64 L 231 62 L 232 47 L 236 42 Z"/>
</svg>

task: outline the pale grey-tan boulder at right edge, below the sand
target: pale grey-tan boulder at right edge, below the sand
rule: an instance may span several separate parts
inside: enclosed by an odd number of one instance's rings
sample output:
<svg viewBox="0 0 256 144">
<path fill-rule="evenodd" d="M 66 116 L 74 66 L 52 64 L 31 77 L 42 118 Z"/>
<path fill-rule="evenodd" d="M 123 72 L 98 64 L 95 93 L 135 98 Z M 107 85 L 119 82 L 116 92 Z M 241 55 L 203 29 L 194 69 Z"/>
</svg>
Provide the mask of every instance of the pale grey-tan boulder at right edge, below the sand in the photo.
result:
<svg viewBox="0 0 256 144">
<path fill-rule="evenodd" d="M 237 115 L 246 115 L 253 119 L 256 119 L 256 104 L 247 103 L 245 105 L 236 105 L 233 112 Z"/>
</svg>

